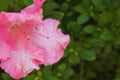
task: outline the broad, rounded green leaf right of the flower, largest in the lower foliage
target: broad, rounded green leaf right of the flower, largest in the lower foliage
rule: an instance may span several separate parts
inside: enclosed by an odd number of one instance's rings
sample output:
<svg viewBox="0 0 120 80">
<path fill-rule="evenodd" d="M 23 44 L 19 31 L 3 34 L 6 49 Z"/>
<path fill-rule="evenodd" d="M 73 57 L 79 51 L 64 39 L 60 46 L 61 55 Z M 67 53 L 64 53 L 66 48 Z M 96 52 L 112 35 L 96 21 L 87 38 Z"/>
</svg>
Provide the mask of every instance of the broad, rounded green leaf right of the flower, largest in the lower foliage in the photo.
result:
<svg viewBox="0 0 120 80">
<path fill-rule="evenodd" d="M 93 61 L 96 59 L 96 54 L 93 50 L 81 50 L 80 51 L 80 58 L 86 61 Z"/>
</svg>

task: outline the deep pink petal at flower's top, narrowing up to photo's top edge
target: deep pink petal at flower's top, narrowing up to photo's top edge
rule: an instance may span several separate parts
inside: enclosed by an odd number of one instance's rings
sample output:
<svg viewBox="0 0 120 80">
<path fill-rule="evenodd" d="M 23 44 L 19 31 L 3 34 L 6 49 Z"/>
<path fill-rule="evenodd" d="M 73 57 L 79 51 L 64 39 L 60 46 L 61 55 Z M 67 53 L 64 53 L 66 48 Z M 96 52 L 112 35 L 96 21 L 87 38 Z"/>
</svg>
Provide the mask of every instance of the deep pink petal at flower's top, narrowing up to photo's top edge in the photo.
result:
<svg viewBox="0 0 120 80">
<path fill-rule="evenodd" d="M 43 19 L 43 10 L 41 6 L 45 0 L 33 0 L 34 3 L 25 9 L 21 10 L 21 13 L 27 16 L 29 19 L 42 20 Z"/>
</svg>

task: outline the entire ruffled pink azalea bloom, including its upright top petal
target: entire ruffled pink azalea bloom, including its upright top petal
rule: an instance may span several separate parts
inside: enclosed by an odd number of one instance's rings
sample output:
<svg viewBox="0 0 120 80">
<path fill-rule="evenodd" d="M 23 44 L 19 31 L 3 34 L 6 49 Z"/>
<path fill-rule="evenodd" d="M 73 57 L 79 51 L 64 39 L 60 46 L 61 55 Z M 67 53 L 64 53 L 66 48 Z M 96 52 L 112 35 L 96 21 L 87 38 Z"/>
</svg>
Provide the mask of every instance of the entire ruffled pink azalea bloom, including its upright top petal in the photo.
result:
<svg viewBox="0 0 120 80">
<path fill-rule="evenodd" d="M 44 0 L 20 12 L 0 12 L 0 67 L 20 79 L 40 65 L 52 65 L 63 56 L 69 35 L 58 28 L 58 20 L 43 20 Z"/>
</svg>

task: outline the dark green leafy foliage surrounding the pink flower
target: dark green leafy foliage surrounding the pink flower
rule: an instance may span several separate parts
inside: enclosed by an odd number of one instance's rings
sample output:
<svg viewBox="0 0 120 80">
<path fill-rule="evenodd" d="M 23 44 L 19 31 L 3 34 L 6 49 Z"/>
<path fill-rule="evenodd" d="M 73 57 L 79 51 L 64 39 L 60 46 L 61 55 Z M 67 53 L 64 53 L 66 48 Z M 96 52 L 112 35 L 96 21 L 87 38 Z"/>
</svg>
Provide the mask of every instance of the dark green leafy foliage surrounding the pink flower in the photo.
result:
<svg viewBox="0 0 120 80">
<path fill-rule="evenodd" d="M 0 0 L 20 11 L 32 0 Z M 120 80 L 120 0 L 46 0 L 44 18 L 61 21 L 71 42 L 64 57 L 21 80 Z M 13 80 L 0 70 L 0 80 Z"/>
</svg>

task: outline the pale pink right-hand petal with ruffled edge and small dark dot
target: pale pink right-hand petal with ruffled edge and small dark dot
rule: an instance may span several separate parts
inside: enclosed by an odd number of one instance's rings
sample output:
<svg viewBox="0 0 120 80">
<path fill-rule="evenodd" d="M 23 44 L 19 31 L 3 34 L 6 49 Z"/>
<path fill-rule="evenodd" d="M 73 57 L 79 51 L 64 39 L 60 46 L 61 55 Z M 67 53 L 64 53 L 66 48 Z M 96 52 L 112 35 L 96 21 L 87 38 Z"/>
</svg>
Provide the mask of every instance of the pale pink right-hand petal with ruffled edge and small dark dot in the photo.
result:
<svg viewBox="0 0 120 80">
<path fill-rule="evenodd" d="M 44 26 L 40 27 L 38 34 L 32 41 L 45 50 L 45 65 L 56 63 L 63 56 L 64 49 L 69 44 L 69 35 L 64 35 L 58 29 L 59 21 L 54 19 L 44 20 Z"/>
</svg>

